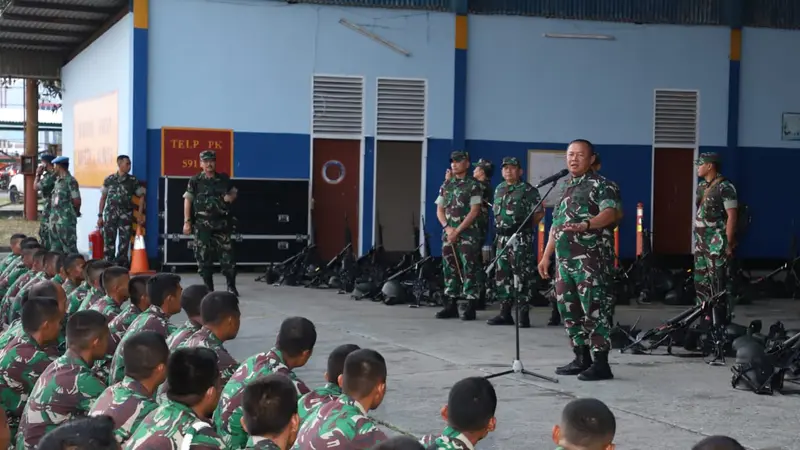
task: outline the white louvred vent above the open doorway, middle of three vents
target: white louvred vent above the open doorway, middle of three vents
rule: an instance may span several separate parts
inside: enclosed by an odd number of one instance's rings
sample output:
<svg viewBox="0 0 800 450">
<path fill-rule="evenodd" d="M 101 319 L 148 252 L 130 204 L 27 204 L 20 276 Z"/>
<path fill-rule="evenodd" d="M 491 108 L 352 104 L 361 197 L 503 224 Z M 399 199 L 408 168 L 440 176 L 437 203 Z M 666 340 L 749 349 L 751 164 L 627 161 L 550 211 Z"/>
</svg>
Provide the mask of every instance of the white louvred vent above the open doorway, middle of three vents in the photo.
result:
<svg viewBox="0 0 800 450">
<path fill-rule="evenodd" d="M 425 80 L 378 78 L 376 137 L 425 138 Z"/>
</svg>

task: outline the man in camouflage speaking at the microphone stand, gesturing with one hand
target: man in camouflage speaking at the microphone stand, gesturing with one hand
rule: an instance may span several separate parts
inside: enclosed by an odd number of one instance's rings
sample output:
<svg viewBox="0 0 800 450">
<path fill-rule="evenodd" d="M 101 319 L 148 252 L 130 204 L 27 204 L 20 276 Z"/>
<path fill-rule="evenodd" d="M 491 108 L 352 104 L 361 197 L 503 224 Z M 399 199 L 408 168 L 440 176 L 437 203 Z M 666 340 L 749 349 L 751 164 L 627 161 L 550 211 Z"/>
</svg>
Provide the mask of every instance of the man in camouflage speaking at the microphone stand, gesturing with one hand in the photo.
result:
<svg viewBox="0 0 800 450">
<path fill-rule="evenodd" d="M 550 257 L 555 252 L 556 300 L 575 353 L 575 359 L 556 373 L 579 375 L 583 381 L 614 378 L 608 365 L 611 344 L 604 302 L 609 260 L 603 229 L 616 220 L 617 199 L 608 181 L 591 171 L 594 153 L 592 143 L 584 139 L 567 147 L 571 177 L 553 209 L 550 238 L 539 262 L 539 274 L 550 278 Z"/>
</svg>

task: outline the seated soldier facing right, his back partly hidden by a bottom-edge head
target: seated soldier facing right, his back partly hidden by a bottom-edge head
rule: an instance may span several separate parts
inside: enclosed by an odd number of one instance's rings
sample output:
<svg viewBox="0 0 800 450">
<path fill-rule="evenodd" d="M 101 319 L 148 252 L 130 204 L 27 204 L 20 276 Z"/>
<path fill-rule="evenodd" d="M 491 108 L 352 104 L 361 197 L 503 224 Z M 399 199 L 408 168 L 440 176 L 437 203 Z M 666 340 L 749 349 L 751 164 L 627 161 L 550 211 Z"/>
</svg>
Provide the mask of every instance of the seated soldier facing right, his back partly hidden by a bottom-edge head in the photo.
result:
<svg viewBox="0 0 800 450">
<path fill-rule="evenodd" d="M 206 301 L 203 300 L 204 308 Z M 205 312 L 203 318 L 206 318 Z M 297 401 L 297 398 L 308 393 L 309 389 L 297 378 L 292 369 L 306 365 L 316 342 L 317 330 L 310 320 L 305 317 L 289 317 L 281 323 L 274 348 L 247 358 L 236 369 L 222 391 L 219 406 L 214 414 L 217 430 L 231 448 L 242 448 L 247 443 L 247 432 L 241 426 L 241 403 L 245 385 L 257 378 L 279 373 L 289 377 L 294 383 L 297 391 L 295 401 Z"/>
</svg>

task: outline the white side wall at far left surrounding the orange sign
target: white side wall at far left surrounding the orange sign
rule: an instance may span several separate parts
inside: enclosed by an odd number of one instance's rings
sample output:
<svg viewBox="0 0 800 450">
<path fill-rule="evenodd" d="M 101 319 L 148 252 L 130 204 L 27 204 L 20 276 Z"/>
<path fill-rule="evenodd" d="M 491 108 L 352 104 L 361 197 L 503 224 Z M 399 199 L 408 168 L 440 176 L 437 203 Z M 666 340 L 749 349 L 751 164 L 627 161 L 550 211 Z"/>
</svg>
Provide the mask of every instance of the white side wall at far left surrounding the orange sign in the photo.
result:
<svg viewBox="0 0 800 450">
<path fill-rule="evenodd" d="M 73 108 L 75 104 L 117 92 L 119 115 L 118 153 L 132 154 L 133 15 L 128 14 L 106 31 L 62 69 L 62 154 L 72 158 L 75 147 Z M 136 161 L 133 160 L 136 168 Z M 70 172 L 75 172 L 70 161 Z M 81 217 L 78 219 L 78 250 L 88 252 L 87 236 L 97 225 L 100 188 L 81 188 Z"/>
</svg>

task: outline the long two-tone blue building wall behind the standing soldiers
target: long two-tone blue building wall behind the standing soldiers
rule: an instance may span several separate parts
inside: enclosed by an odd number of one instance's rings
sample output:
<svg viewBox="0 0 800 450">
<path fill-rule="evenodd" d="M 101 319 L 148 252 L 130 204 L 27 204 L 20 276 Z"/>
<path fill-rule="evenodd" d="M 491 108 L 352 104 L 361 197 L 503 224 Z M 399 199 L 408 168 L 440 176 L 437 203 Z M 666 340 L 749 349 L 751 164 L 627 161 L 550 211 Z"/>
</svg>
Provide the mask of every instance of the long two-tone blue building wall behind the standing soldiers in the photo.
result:
<svg viewBox="0 0 800 450">
<path fill-rule="evenodd" d="M 374 156 L 370 136 L 376 78 L 428 80 L 426 216 L 434 237 L 439 235 L 432 219 L 436 187 L 449 152 L 462 142 L 474 157 L 499 161 L 503 156 L 526 159 L 528 149 L 565 148 L 582 137 L 598 145 L 604 172 L 622 188 L 630 213 L 621 233 L 631 238 L 623 238 L 621 253 L 633 256 L 635 204 L 644 202 L 645 211 L 650 210 L 653 90 L 659 88 L 700 91 L 700 151 L 718 151 L 734 162 L 726 175 L 736 181 L 754 214 L 743 256 L 786 256 L 792 220 L 800 224 L 797 208 L 783 206 L 798 193 L 796 183 L 774 169 L 776 163 L 800 165 L 800 143 L 780 140 L 781 114 L 800 112 L 800 60 L 787 56 L 800 48 L 800 31 L 745 29 L 741 57 L 737 51 L 735 58 L 741 62 L 734 64 L 731 31 L 724 27 L 511 16 L 469 16 L 465 27 L 466 21 L 453 14 L 260 0 L 160 0 L 134 15 L 142 14 L 144 25 L 139 20 L 131 26 L 127 19 L 128 25 L 117 25 L 124 30 L 115 27 L 65 68 L 65 110 L 92 89 L 102 92 L 104 83 L 134 86 L 136 103 L 128 119 L 133 123 L 134 173 L 152 183 L 149 204 L 156 198 L 164 126 L 234 129 L 236 176 L 309 178 L 311 77 L 319 73 L 365 77 L 366 167 Z M 347 29 L 338 23 L 342 18 L 411 56 Z M 542 35 L 547 32 L 612 34 L 616 39 L 546 39 Z M 105 48 L 104 42 L 120 41 L 115 38 L 120 33 L 128 39 L 128 55 L 134 36 L 134 63 L 132 70 L 126 66 L 127 75 L 114 75 L 115 63 L 83 62 Z M 729 93 L 733 67 L 741 69 L 741 89 Z M 98 71 L 114 74 L 93 76 Z M 70 92 L 70 84 L 79 87 Z M 729 98 L 740 100 L 738 134 L 732 140 Z M 455 112 L 464 103 L 462 118 Z M 65 149 L 71 142 L 68 121 L 65 117 Z M 729 149 L 735 138 L 738 148 Z M 145 173 L 140 172 L 142 160 Z M 367 169 L 367 191 L 370 177 Z M 89 220 L 92 201 L 85 197 Z M 365 247 L 372 239 L 371 214 L 371 205 L 365 204 Z M 148 220 L 147 231 L 148 250 L 154 254 L 154 220 Z"/>
</svg>

